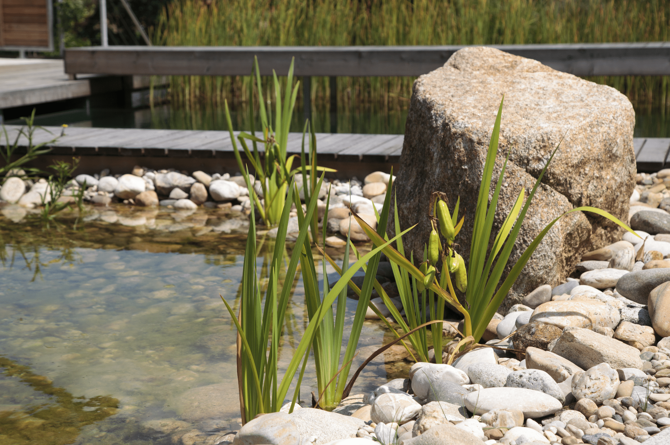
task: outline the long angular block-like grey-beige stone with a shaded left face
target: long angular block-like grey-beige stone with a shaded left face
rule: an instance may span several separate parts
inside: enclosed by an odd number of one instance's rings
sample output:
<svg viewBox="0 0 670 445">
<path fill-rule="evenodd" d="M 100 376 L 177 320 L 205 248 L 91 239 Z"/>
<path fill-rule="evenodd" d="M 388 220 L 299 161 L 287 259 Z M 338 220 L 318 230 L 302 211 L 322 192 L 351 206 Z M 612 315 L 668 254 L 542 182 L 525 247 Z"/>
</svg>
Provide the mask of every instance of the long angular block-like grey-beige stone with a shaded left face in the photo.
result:
<svg viewBox="0 0 670 445">
<path fill-rule="evenodd" d="M 608 363 L 613 369 L 642 369 L 640 351 L 615 338 L 598 334 L 590 329 L 563 329 L 563 334 L 551 352 L 582 369 L 589 369 L 600 363 Z"/>
</svg>

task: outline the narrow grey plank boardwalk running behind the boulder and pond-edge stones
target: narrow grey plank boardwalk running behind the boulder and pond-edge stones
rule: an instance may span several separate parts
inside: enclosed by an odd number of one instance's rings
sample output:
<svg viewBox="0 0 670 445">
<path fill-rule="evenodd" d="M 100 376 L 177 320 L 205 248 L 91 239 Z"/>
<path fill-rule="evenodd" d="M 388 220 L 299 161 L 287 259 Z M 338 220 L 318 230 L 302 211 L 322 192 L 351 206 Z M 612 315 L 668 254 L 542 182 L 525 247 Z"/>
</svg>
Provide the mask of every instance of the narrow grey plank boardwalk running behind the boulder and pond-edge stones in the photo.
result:
<svg viewBox="0 0 670 445">
<path fill-rule="evenodd" d="M 9 139 L 16 137 L 19 125 L 6 125 Z M 61 127 L 43 127 L 34 134 L 34 143 L 52 141 Z M 352 133 L 317 133 L 319 155 L 340 162 L 398 162 L 403 149 L 403 135 L 366 135 Z M 5 143 L 4 139 L 0 145 Z M 21 137 L 20 145 L 27 145 Z M 306 142 L 307 143 L 307 142 Z M 228 131 L 157 130 L 68 127 L 58 137 L 52 154 L 107 155 L 145 157 L 230 158 L 232 143 Z M 302 133 L 290 133 L 287 151 L 300 153 Z M 306 147 L 307 149 L 307 147 Z M 655 172 L 670 167 L 670 138 L 635 138 L 637 168 Z"/>
</svg>

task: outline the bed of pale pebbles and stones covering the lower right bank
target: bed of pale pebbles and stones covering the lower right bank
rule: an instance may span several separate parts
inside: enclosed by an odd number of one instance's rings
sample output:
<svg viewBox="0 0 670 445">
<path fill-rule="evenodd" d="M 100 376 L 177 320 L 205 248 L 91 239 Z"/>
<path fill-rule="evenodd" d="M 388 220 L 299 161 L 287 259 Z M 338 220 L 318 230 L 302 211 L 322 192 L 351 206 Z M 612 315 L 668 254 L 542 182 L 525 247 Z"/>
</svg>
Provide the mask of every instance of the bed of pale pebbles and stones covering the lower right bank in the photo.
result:
<svg viewBox="0 0 670 445">
<path fill-rule="evenodd" d="M 564 283 L 541 285 L 496 314 L 482 342 L 497 348 L 470 351 L 452 365 L 415 363 L 407 378 L 352 395 L 330 413 L 300 407 L 288 414 L 285 405 L 228 440 L 669 444 L 670 170 L 636 180 L 630 226 L 639 236 L 624 233 L 586 253 Z M 446 336 L 457 323 L 444 323 Z"/>
</svg>

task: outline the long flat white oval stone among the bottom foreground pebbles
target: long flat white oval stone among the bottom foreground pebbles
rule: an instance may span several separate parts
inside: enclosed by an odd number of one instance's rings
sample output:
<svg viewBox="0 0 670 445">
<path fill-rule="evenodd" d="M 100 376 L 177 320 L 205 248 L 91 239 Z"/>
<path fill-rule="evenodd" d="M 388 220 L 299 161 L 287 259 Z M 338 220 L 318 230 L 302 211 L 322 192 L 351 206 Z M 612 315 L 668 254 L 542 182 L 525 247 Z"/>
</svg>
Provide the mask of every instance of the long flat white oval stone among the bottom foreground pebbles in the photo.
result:
<svg viewBox="0 0 670 445">
<path fill-rule="evenodd" d="M 465 399 L 465 405 L 478 415 L 493 409 L 519 409 L 525 418 L 537 419 L 553 414 L 563 405 L 551 395 L 526 388 L 484 388 Z"/>
</svg>

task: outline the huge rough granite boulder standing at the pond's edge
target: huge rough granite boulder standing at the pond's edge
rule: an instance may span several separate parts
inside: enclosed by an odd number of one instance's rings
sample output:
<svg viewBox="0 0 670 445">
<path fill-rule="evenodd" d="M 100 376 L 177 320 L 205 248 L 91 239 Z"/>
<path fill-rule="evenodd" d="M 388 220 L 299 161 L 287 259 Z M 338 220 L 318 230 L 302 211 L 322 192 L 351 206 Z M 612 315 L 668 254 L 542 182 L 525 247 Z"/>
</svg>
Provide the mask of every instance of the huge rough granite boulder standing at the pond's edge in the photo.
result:
<svg viewBox="0 0 670 445">
<path fill-rule="evenodd" d="M 459 214 L 466 220 L 456 243 L 468 261 L 480 180 L 502 94 L 505 105 L 489 196 L 505 153 L 510 156 L 491 241 L 521 189 L 530 192 L 565 135 L 535 194 L 509 264 L 551 220 L 576 206 L 595 206 L 621 220 L 628 218 L 636 173 L 635 116 L 628 99 L 614 88 L 535 60 L 494 48 L 464 48 L 442 68 L 414 82 L 395 183 L 401 227 L 418 223 L 404 237 L 408 255 L 411 249 L 415 258 L 423 256 L 430 231 L 429 199 L 439 190 L 447 194 L 450 209 L 460 196 Z M 539 285 L 559 284 L 582 254 L 617 241 L 621 233 L 595 214 L 574 212 L 561 218 L 531 257 L 504 307 L 521 302 Z"/>
</svg>

